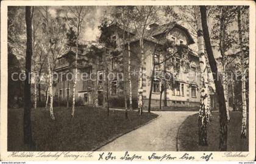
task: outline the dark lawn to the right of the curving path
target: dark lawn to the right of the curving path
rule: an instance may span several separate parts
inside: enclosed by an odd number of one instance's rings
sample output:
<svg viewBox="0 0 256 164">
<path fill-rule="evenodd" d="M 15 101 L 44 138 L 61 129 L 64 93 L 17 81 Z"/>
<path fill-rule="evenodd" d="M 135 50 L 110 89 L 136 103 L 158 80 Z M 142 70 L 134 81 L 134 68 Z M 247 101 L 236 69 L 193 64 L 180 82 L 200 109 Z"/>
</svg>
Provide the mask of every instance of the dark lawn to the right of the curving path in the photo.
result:
<svg viewBox="0 0 256 164">
<path fill-rule="evenodd" d="M 208 146 L 198 146 L 198 114 L 191 115 L 182 123 L 179 130 L 179 151 L 218 151 L 219 112 L 212 112 L 213 119 L 207 128 Z M 247 117 L 248 118 L 248 117 Z M 248 119 L 247 119 L 248 120 Z M 241 139 L 241 112 L 230 112 L 228 125 L 227 151 L 248 151 L 247 138 Z M 248 121 L 247 121 L 248 129 Z"/>
</svg>

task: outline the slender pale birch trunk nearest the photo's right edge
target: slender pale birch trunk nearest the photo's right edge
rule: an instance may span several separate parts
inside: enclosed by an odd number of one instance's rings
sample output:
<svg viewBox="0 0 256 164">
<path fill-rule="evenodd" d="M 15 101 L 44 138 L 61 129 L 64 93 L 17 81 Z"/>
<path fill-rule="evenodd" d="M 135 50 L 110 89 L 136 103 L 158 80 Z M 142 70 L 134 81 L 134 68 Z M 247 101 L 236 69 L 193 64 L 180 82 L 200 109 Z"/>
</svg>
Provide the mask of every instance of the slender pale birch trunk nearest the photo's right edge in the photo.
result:
<svg viewBox="0 0 256 164">
<path fill-rule="evenodd" d="M 241 7 L 238 8 L 238 35 L 239 35 L 239 45 L 241 50 L 241 57 L 240 57 L 240 63 L 241 63 L 241 72 L 244 73 L 244 52 L 243 52 L 243 36 L 242 36 L 242 30 L 241 30 Z M 243 114 L 242 114 L 242 130 L 241 130 L 241 138 L 246 138 L 246 80 L 245 80 L 245 73 L 241 77 L 241 83 L 242 83 L 242 107 L 243 107 Z"/>
</svg>

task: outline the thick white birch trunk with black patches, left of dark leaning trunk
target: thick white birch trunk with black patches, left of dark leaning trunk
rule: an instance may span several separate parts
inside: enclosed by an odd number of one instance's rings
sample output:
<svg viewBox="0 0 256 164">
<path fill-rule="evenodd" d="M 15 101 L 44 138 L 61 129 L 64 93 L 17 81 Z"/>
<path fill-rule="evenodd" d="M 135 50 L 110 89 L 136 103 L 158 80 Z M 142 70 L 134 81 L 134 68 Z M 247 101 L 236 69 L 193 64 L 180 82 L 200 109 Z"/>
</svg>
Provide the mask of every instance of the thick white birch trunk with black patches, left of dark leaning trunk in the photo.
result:
<svg viewBox="0 0 256 164">
<path fill-rule="evenodd" d="M 199 109 L 199 145 L 207 146 L 207 124 L 208 124 L 208 111 L 210 111 L 210 106 L 208 105 L 208 75 L 207 66 L 205 61 L 204 53 L 204 36 L 202 34 L 202 23 L 201 14 L 199 7 L 196 8 L 196 24 L 197 24 L 197 46 L 198 55 L 200 61 L 201 70 L 201 92 L 200 92 L 200 109 Z"/>
</svg>

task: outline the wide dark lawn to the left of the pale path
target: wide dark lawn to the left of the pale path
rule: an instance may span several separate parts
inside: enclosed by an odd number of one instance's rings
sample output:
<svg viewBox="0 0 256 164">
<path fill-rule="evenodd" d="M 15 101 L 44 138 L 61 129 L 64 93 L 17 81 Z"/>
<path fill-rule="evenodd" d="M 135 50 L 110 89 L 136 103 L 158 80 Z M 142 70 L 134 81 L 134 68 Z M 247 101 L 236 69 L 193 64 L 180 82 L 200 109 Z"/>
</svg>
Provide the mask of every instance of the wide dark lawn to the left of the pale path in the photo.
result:
<svg viewBox="0 0 256 164">
<path fill-rule="evenodd" d="M 23 145 L 23 109 L 8 109 L 8 151 L 90 151 L 107 143 L 117 135 L 157 117 L 156 114 L 129 111 L 125 119 L 124 111 L 107 112 L 99 108 L 76 108 L 71 118 L 71 109 L 54 108 L 55 121 L 46 109 L 32 109 L 33 150 Z"/>
</svg>

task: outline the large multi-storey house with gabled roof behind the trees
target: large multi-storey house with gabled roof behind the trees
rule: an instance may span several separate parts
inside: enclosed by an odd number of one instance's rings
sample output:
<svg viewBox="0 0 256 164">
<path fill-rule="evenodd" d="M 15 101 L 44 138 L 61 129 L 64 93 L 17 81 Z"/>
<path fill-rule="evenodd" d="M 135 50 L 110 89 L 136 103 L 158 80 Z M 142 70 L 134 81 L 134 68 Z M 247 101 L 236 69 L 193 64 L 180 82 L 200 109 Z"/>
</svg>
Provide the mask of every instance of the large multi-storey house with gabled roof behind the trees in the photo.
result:
<svg viewBox="0 0 256 164">
<path fill-rule="evenodd" d="M 83 104 L 102 106 L 108 94 L 110 107 L 124 106 L 124 87 L 129 100 L 129 51 L 130 75 L 132 81 L 133 108 L 137 108 L 139 70 L 143 66 L 143 106 L 148 106 L 151 91 L 152 70 L 155 64 L 155 73 L 171 72 L 175 74 L 175 87 L 165 87 L 162 94 L 163 106 L 199 106 L 199 57 L 196 53 L 187 52 L 186 55 L 170 55 L 175 46 L 189 47 L 194 44 L 193 38 L 187 29 L 175 22 L 158 25 L 151 24 L 143 38 L 133 29 L 123 27 L 117 23 L 108 26 L 111 28 L 110 39 L 116 43 L 116 49 L 103 47 L 93 55 L 89 54 L 88 47 L 80 47 L 78 80 L 76 85 L 76 100 Z M 129 43 L 129 47 L 128 47 Z M 143 46 L 141 46 L 143 43 Z M 175 46 L 166 48 L 166 44 Z M 124 47 L 124 48 L 123 48 Z M 143 47 L 143 48 L 142 48 Z M 172 48 L 173 47 L 173 48 Z M 141 50 L 144 58 L 141 59 Z M 66 101 L 73 95 L 74 82 L 71 72 L 75 72 L 75 50 L 69 50 L 58 58 L 54 72 L 59 78 L 54 83 L 54 95 L 57 100 Z M 115 53 L 113 53 L 115 52 Z M 68 57 L 69 56 L 69 57 Z M 73 57 L 70 57 L 73 56 Z M 167 58 L 167 59 L 166 59 Z M 157 64 L 156 64 L 157 63 Z M 155 75 L 155 74 L 154 74 Z M 159 106 L 163 83 L 166 82 L 155 75 L 152 83 L 151 106 Z M 129 104 L 129 103 L 128 103 Z"/>
</svg>

